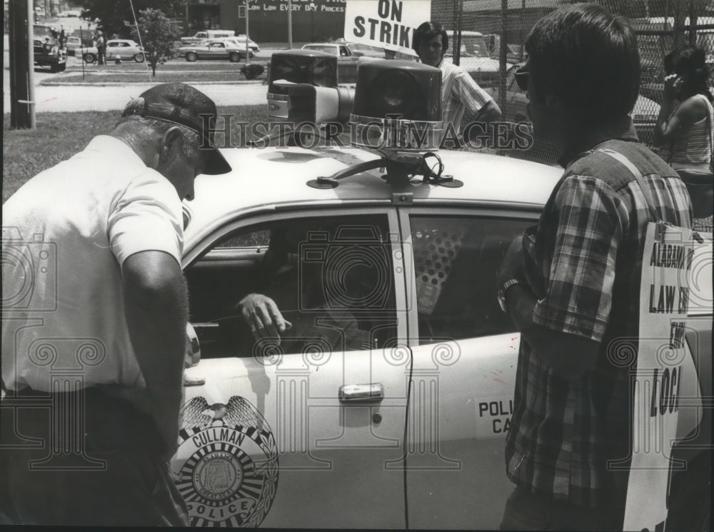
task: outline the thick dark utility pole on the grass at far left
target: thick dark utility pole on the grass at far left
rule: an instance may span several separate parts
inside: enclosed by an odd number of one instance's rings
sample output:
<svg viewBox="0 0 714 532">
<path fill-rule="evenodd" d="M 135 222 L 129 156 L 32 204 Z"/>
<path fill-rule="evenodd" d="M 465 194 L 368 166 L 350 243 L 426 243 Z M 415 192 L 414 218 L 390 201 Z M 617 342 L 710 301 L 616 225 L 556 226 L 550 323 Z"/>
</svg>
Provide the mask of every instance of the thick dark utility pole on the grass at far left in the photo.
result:
<svg viewBox="0 0 714 532">
<path fill-rule="evenodd" d="M 35 129 L 35 79 L 31 0 L 10 0 L 10 127 Z"/>
</svg>

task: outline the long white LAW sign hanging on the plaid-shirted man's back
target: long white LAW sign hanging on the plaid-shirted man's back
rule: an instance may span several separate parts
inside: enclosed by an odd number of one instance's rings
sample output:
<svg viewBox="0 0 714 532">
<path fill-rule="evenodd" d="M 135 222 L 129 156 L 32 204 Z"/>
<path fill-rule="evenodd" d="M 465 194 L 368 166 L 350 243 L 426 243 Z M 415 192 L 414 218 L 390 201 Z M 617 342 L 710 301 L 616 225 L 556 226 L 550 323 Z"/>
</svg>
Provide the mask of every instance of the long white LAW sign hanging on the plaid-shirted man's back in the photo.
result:
<svg viewBox="0 0 714 532">
<path fill-rule="evenodd" d="M 672 460 L 672 446 L 702 418 L 698 376 L 684 333 L 688 316 L 711 315 L 712 257 L 711 234 L 649 224 L 625 531 L 666 529 L 670 474 L 686 466 Z M 683 402 L 686 406 L 680 406 Z"/>
</svg>

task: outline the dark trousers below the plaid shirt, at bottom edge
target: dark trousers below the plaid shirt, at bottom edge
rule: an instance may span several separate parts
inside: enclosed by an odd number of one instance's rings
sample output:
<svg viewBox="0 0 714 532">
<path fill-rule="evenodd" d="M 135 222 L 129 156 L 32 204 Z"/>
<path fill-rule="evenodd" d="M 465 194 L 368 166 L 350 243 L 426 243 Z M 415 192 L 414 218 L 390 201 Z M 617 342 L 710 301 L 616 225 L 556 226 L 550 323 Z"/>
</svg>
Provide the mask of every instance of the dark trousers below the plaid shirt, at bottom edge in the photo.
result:
<svg viewBox="0 0 714 532">
<path fill-rule="evenodd" d="M 501 530 L 621 531 L 625 507 L 583 508 L 516 486 L 506 501 Z"/>
</svg>

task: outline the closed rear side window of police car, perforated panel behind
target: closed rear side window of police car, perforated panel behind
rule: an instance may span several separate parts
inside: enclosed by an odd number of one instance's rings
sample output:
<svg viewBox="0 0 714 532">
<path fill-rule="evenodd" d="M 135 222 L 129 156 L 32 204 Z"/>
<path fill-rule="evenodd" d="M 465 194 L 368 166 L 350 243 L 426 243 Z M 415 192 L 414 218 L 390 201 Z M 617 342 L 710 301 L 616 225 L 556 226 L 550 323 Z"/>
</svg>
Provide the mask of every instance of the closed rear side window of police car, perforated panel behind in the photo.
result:
<svg viewBox="0 0 714 532">
<path fill-rule="evenodd" d="M 419 342 L 515 331 L 498 307 L 496 273 L 531 221 L 412 216 Z"/>
</svg>

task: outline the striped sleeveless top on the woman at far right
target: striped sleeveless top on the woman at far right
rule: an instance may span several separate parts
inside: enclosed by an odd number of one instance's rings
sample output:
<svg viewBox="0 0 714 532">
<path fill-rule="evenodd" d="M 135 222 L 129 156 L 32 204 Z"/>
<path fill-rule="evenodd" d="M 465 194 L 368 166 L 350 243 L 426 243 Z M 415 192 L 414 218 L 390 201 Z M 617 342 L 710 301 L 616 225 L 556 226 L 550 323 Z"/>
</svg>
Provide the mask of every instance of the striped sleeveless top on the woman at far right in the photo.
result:
<svg viewBox="0 0 714 532">
<path fill-rule="evenodd" d="M 696 94 L 692 98 L 700 98 L 705 102 L 708 116 L 683 129 L 672 144 L 660 149 L 660 154 L 672 168 L 709 171 L 714 144 L 710 121 L 714 116 L 714 109 L 703 94 Z M 677 109 L 672 115 L 676 112 Z"/>
</svg>

